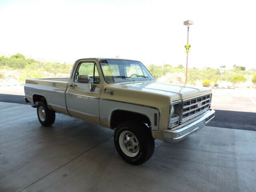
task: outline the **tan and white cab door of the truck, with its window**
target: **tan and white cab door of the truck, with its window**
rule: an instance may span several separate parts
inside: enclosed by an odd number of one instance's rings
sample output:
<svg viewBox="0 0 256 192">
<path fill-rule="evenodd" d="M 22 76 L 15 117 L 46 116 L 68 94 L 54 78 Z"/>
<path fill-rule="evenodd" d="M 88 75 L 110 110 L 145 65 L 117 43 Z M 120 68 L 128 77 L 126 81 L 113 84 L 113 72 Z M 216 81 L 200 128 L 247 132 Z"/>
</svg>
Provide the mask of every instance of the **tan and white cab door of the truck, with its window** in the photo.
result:
<svg viewBox="0 0 256 192">
<path fill-rule="evenodd" d="M 99 97 L 102 80 L 96 62 L 96 60 L 81 60 L 76 64 L 66 98 L 71 116 L 100 124 Z M 85 82 L 81 78 L 85 78 Z M 94 85 L 95 89 L 92 90 Z"/>
</svg>

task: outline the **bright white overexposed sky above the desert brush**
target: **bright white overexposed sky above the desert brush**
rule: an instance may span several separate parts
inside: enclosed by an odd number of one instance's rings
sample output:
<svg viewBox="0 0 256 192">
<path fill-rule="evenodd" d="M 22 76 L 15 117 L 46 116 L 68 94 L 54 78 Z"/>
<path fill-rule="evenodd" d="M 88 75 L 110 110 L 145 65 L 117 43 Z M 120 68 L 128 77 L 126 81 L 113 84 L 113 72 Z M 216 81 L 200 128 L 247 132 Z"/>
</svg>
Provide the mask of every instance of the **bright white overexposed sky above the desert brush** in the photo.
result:
<svg viewBox="0 0 256 192">
<path fill-rule="evenodd" d="M 0 0 L 0 55 L 256 68 L 256 0 Z"/>
</svg>

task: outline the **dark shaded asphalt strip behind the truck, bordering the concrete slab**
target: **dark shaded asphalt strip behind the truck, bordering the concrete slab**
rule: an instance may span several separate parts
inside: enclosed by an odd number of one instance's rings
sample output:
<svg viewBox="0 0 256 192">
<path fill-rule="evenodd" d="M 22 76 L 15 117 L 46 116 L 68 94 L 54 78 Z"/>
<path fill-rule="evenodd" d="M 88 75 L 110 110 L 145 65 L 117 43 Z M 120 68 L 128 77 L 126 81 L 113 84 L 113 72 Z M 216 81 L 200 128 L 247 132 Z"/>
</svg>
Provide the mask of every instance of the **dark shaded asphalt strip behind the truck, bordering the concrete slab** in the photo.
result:
<svg viewBox="0 0 256 192">
<path fill-rule="evenodd" d="M 23 95 L 0 94 L 0 102 L 26 104 Z M 32 103 L 27 103 L 32 105 Z M 256 113 L 216 110 L 215 118 L 208 126 L 256 131 Z"/>
</svg>

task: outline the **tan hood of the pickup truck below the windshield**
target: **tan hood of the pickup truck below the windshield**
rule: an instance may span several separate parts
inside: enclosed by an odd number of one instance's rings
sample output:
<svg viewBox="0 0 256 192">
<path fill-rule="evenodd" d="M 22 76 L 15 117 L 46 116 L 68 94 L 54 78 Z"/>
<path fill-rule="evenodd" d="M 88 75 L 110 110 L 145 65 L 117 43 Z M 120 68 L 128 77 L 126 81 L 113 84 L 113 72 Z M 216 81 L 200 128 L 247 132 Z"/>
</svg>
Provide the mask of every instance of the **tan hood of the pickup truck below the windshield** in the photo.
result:
<svg viewBox="0 0 256 192">
<path fill-rule="evenodd" d="M 211 89 L 207 87 L 197 87 L 188 85 L 177 85 L 160 82 L 132 82 L 112 84 L 115 88 L 138 90 L 140 92 L 151 92 L 170 96 L 172 101 L 184 100 L 202 94 L 210 93 Z"/>
</svg>

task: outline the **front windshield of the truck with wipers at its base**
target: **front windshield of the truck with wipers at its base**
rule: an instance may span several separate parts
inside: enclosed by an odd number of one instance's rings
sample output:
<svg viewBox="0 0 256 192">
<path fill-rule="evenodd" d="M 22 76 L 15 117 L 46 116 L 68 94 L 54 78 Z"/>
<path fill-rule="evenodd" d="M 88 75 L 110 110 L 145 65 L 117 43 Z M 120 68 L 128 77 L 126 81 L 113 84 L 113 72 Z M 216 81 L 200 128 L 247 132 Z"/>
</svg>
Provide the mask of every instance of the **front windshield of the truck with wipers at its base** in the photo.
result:
<svg viewBox="0 0 256 192">
<path fill-rule="evenodd" d="M 100 61 L 100 66 L 107 83 L 155 80 L 138 61 L 106 59 Z"/>
</svg>

